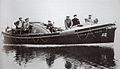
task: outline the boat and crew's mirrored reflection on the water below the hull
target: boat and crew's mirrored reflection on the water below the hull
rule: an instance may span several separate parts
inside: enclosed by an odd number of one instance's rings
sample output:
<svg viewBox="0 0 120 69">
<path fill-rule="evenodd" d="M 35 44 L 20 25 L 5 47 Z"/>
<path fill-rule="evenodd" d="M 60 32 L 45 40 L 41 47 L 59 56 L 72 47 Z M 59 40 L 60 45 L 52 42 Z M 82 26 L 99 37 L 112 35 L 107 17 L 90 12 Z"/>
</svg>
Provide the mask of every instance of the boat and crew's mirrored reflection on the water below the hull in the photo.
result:
<svg viewBox="0 0 120 69">
<path fill-rule="evenodd" d="M 7 57 L 21 69 L 114 69 L 114 50 L 100 46 L 4 46 Z M 9 55 L 12 54 L 13 55 Z M 11 58 L 8 58 L 11 60 Z M 19 69 L 19 68 L 18 68 Z"/>
</svg>

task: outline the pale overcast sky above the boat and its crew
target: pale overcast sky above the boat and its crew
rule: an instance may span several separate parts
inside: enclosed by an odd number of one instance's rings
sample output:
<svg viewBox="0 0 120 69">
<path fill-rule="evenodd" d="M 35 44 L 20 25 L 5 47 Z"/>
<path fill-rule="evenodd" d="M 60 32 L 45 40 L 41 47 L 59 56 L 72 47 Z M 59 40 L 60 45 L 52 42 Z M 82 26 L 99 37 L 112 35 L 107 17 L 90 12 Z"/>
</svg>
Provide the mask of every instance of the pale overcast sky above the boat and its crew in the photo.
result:
<svg viewBox="0 0 120 69">
<path fill-rule="evenodd" d="M 0 0 L 0 21 L 11 25 L 18 17 L 30 21 L 47 22 L 64 27 L 66 15 L 78 15 L 81 23 L 89 14 L 99 23 L 114 22 L 120 18 L 120 0 Z"/>
</svg>

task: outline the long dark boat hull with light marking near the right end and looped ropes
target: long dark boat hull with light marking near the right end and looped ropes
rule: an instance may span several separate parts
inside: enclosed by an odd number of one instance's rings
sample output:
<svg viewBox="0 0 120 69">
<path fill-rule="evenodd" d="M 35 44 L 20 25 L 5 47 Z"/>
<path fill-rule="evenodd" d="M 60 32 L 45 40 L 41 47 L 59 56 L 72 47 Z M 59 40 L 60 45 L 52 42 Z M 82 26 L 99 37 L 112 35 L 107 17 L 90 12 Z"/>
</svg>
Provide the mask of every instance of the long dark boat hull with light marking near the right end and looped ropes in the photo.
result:
<svg viewBox="0 0 120 69">
<path fill-rule="evenodd" d="M 16 35 L 2 32 L 6 44 L 87 44 L 114 42 L 115 24 L 52 34 Z"/>
</svg>

